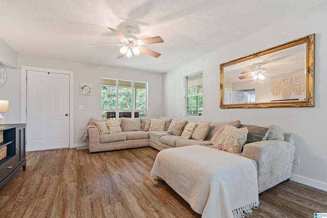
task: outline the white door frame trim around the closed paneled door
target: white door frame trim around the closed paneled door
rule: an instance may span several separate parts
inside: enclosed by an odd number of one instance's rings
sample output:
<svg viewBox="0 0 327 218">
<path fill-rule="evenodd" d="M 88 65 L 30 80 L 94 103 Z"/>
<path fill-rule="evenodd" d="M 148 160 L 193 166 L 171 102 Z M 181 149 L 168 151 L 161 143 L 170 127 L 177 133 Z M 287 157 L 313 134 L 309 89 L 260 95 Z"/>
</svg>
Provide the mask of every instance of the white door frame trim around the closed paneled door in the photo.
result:
<svg viewBox="0 0 327 218">
<path fill-rule="evenodd" d="M 73 148 L 74 147 L 74 71 L 33 67 L 33 66 L 24 66 L 24 65 L 21 66 L 20 123 L 22 123 L 22 124 L 26 124 L 26 122 L 27 122 L 27 112 L 26 112 L 26 110 L 27 110 L 27 81 L 26 81 L 27 70 L 41 71 L 41 72 L 54 72 L 56 74 L 69 75 L 69 148 Z"/>
</svg>

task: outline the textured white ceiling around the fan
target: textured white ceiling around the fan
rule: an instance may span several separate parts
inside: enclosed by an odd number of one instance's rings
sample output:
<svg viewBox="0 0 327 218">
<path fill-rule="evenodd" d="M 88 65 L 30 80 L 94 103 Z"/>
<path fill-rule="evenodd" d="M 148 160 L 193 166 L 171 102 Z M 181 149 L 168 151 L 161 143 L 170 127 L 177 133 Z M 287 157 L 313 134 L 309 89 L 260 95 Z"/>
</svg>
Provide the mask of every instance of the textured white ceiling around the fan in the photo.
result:
<svg viewBox="0 0 327 218">
<path fill-rule="evenodd" d="M 0 0 L 0 37 L 18 54 L 163 73 L 327 0 Z M 161 54 L 116 59 L 119 38 Z"/>
</svg>

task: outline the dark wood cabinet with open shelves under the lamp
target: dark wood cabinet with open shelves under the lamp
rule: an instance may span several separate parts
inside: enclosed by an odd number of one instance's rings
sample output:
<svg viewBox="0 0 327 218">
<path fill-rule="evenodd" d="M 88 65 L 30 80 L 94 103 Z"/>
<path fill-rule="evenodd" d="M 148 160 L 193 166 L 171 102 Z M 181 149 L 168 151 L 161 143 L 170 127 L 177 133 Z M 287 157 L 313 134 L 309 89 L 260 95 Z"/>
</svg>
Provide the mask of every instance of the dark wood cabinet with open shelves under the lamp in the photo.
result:
<svg viewBox="0 0 327 218">
<path fill-rule="evenodd" d="M 13 178 L 20 167 L 26 170 L 26 125 L 0 125 L 3 131 L 3 142 L 0 149 L 7 150 L 0 160 L 0 188 Z"/>
</svg>

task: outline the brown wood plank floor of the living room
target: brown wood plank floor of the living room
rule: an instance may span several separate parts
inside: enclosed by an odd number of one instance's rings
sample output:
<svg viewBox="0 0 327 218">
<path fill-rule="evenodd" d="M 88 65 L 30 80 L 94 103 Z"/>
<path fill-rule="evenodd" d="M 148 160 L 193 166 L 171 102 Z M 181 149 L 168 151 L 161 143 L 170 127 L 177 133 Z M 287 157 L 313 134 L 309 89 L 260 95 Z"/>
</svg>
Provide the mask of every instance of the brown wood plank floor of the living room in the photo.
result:
<svg viewBox="0 0 327 218">
<path fill-rule="evenodd" d="M 150 171 L 158 151 L 147 147 L 90 154 L 28 152 L 27 170 L 0 189 L 0 217 L 201 217 Z M 313 217 L 327 212 L 327 192 L 296 182 L 260 196 L 249 217 Z"/>
</svg>

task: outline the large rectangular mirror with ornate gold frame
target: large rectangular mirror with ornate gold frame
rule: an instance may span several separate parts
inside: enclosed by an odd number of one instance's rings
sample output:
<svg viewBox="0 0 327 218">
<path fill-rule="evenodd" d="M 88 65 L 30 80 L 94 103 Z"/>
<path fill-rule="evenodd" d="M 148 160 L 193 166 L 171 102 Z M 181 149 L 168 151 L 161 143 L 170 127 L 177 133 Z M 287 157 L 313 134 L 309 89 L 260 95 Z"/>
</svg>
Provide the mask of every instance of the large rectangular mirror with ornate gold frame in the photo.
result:
<svg viewBox="0 0 327 218">
<path fill-rule="evenodd" d="M 313 107 L 314 34 L 220 64 L 220 108 Z"/>
</svg>

